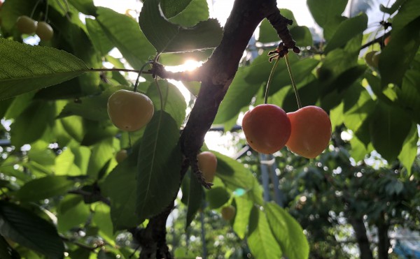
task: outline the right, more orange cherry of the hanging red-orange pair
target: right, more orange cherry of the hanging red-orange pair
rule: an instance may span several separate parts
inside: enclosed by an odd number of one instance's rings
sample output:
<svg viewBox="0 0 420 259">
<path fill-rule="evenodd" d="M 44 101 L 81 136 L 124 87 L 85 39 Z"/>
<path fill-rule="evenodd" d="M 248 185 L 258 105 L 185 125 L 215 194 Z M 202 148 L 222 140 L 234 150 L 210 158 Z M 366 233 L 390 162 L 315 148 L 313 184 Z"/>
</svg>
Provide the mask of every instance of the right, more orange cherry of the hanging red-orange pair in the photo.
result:
<svg viewBox="0 0 420 259">
<path fill-rule="evenodd" d="M 331 121 L 328 114 L 317 106 L 306 106 L 288 112 L 292 133 L 286 143 L 290 151 L 306 158 L 315 158 L 328 146 Z"/>
</svg>

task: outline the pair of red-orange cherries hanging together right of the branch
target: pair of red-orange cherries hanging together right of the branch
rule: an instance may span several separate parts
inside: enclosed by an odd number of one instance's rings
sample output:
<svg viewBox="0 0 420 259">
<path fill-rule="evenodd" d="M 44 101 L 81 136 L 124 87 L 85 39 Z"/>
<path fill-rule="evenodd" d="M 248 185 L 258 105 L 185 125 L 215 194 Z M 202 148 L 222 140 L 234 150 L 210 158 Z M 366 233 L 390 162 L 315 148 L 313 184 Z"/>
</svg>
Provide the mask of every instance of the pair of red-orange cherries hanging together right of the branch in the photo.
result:
<svg viewBox="0 0 420 259">
<path fill-rule="evenodd" d="M 260 153 L 272 154 L 286 145 L 306 158 L 321 154 L 331 137 L 330 117 L 317 106 L 286 113 L 276 105 L 258 105 L 246 112 L 242 129 L 248 144 Z"/>
</svg>

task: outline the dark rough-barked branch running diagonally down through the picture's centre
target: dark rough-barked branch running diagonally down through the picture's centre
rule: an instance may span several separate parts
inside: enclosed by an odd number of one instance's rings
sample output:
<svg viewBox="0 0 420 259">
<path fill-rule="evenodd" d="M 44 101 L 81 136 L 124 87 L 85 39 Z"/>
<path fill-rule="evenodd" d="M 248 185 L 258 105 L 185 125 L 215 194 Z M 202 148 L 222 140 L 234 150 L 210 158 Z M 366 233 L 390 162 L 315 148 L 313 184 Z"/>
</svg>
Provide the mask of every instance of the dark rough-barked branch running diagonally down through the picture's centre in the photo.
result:
<svg viewBox="0 0 420 259">
<path fill-rule="evenodd" d="M 202 82 L 194 108 L 181 133 L 180 142 L 184 165 L 187 165 L 183 166 L 183 170 L 190 165 L 197 179 L 206 188 L 210 188 L 211 184 L 205 182 L 198 168 L 197 154 L 204 143 L 204 136 L 216 117 L 219 105 L 235 77 L 248 41 L 265 17 L 269 18 L 279 38 L 283 40 L 281 52 L 287 52 L 288 49 L 298 52 L 295 41 L 287 29 L 287 25 L 291 24 L 290 20 L 280 15 L 276 0 L 235 0 L 220 45 L 195 73 L 169 73 L 159 64 L 153 67 L 153 74 L 162 78 Z M 183 177 L 185 171 L 181 172 L 181 175 Z M 145 230 L 132 230 L 134 238 L 142 243 L 141 258 L 172 258 L 165 240 L 165 223 L 173 204 L 174 202 L 164 212 L 154 216 Z"/>
</svg>

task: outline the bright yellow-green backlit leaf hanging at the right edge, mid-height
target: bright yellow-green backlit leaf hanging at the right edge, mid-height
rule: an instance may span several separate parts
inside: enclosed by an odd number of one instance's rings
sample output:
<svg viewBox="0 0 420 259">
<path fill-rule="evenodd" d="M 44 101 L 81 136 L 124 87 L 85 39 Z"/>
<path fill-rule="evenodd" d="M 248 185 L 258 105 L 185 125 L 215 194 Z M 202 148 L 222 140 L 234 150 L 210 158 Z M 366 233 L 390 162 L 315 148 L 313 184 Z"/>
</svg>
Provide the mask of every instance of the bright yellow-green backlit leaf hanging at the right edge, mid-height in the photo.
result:
<svg viewBox="0 0 420 259">
<path fill-rule="evenodd" d="M 409 175 L 411 174 L 412 165 L 417 156 L 417 141 L 419 141 L 419 131 L 417 130 L 417 125 L 413 124 L 407 138 L 404 140 L 400 155 L 398 156 L 402 165 L 407 168 Z"/>
</svg>

